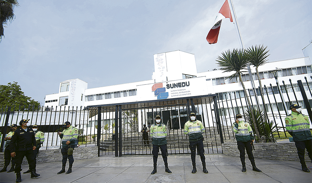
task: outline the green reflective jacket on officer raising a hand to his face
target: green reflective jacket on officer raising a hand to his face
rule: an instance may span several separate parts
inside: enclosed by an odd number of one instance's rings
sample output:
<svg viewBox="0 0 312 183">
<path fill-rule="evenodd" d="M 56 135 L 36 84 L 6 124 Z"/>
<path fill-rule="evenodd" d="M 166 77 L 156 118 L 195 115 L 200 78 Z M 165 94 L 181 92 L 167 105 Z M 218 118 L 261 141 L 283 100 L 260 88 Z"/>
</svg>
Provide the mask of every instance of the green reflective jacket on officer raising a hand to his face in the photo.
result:
<svg viewBox="0 0 312 183">
<path fill-rule="evenodd" d="M 247 142 L 254 139 L 250 124 L 245 121 L 233 123 L 232 130 L 235 133 L 236 141 Z"/>
</svg>

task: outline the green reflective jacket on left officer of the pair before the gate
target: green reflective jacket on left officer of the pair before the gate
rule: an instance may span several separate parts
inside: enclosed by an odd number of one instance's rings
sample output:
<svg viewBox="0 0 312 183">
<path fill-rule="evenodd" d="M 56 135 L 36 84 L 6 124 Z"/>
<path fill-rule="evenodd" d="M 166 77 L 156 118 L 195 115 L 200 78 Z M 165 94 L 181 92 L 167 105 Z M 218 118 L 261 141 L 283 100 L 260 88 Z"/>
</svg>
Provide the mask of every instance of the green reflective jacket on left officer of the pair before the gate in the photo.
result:
<svg viewBox="0 0 312 183">
<path fill-rule="evenodd" d="M 157 125 L 156 123 L 151 125 L 151 136 L 153 137 L 152 144 L 153 145 L 163 145 L 167 144 L 167 128 L 166 125 L 163 123 L 160 123 Z"/>
</svg>

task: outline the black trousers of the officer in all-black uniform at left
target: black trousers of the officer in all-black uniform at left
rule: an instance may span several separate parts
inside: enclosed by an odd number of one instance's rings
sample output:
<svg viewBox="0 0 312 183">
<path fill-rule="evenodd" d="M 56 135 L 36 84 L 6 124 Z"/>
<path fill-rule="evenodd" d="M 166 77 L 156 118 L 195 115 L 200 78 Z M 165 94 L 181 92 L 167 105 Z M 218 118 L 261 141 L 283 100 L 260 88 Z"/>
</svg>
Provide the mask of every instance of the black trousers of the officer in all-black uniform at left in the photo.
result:
<svg viewBox="0 0 312 183">
<path fill-rule="evenodd" d="M 14 169 L 15 173 L 19 173 L 22 171 L 21 165 L 22 165 L 22 161 L 23 161 L 25 156 L 26 156 L 27 162 L 29 164 L 29 170 L 36 171 L 36 157 L 35 157 L 34 150 L 29 149 L 26 151 L 17 151 L 15 153 L 16 153 L 15 169 Z"/>
</svg>

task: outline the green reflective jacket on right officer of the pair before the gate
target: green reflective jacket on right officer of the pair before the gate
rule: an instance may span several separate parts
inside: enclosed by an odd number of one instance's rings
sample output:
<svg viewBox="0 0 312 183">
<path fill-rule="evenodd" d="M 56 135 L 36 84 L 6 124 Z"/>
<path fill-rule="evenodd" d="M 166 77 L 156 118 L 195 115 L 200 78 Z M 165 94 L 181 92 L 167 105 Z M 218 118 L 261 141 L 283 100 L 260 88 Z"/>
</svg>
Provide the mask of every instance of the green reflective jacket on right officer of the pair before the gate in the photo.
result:
<svg viewBox="0 0 312 183">
<path fill-rule="evenodd" d="M 204 138 L 202 134 L 205 132 L 205 127 L 200 120 L 188 120 L 184 124 L 184 134 L 188 135 L 190 142 L 194 142 Z"/>
</svg>

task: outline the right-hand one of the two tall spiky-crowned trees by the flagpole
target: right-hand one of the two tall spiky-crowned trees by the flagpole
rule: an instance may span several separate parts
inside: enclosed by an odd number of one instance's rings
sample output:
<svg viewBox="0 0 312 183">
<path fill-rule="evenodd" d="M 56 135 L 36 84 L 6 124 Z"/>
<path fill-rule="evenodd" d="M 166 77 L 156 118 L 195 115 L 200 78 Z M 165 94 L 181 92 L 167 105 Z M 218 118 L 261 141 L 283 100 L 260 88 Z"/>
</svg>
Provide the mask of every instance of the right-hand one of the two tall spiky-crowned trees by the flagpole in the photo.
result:
<svg viewBox="0 0 312 183">
<path fill-rule="evenodd" d="M 258 77 L 258 81 L 259 81 L 260 94 L 262 97 L 263 106 L 265 106 L 265 103 L 264 103 L 263 89 L 262 89 L 262 85 L 261 85 L 261 78 L 259 75 L 258 67 L 260 65 L 264 65 L 266 63 L 266 61 L 268 61 L 268 59 L 266 59 L 266 58 L 270 55 L 270 54 L 268 54 L 268 52 L 270 50 L 266 50 L 266 48 L 267 48 L 267 46 L 264 48 L 263 45 L 261 45 L 261 46 L 256 45 L 255 47 L 251 46 L 251 48 L 249 47 L 247 49 L 247 53 L 249 56 L 249 63 L 256 67 L 256 73 L 257 73 L 257 77 Z M 267 123 L 266 112 L 264 113 L 264 120 Z"/>
</svg>

